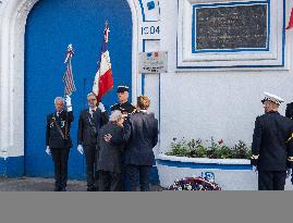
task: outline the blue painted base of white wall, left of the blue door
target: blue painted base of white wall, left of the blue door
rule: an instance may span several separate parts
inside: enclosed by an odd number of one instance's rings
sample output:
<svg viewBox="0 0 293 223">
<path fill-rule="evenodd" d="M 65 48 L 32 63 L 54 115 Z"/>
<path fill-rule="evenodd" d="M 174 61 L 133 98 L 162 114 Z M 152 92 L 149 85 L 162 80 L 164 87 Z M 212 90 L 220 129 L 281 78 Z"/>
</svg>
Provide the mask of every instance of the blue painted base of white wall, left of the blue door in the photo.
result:
<svg viewBox="0 0 293 223">
<path fill-rule="evenodd" d="M 24 157 L 0 158 L 0 176 L 20 177 L 24 175 Z"/>
</svg>

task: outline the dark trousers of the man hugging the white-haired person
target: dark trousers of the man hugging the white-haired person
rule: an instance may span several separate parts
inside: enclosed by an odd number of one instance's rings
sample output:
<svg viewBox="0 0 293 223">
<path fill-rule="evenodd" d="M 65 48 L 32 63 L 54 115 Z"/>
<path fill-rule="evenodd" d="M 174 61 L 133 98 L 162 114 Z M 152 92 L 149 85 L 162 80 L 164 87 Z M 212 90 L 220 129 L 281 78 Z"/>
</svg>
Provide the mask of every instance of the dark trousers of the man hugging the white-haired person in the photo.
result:
<svg viewBox="0 0 293 223">
<path fill-rule="evenodd" d="M 149 191 L 151 165 L 126 165 L 126 175 L 130 178 L 132 191 L 139 187 L 141 191 Z"/>
</svg>

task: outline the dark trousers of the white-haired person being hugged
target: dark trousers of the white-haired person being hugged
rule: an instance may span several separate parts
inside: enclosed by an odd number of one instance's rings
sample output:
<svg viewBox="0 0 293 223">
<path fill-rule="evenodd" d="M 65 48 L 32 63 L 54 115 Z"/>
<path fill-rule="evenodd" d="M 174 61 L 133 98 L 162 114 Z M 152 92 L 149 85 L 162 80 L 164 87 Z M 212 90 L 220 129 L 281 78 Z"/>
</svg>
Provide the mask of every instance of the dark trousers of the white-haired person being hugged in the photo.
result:
<svg viewBox="0 0 293 223">
<path fill-rule="evenodd" d="M 123 174 L 99 171 L 99 191 L 122 191 Z"/>
</svg>

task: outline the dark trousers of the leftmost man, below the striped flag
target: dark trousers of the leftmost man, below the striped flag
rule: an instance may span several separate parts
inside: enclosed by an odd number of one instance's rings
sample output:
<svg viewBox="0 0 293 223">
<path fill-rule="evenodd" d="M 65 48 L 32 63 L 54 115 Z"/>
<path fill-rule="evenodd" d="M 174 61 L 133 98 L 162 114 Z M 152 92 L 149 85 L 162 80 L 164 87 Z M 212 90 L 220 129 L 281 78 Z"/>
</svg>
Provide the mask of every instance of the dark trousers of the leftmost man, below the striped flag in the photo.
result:
<svg viewBox="0 0 293 223">
<path fill-rule="evenodd" d="M 54 163 L 54 190 L 64 190 L 68 184 L 70 148 L 51 148 Z"/>
</svg>

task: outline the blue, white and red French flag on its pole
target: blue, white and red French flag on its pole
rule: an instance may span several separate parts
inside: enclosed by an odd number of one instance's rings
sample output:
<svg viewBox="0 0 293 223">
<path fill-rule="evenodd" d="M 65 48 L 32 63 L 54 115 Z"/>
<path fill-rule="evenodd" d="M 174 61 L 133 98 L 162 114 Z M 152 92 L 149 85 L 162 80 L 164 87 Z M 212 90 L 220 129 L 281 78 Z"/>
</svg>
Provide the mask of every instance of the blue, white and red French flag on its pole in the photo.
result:
<svg viewBox="0 0 293 223">
<path fill-rule="evenodd" d="M 101 46 L 101 55 L 99 61 L 99 70 L 96 73 L 93 86 L 93 92 L 97 96 L 98 101 L 113 88 L 113 77 L 111 70 L 110 55 L 108 51 L 109 26 L 106 22 L 103 30 L 103 41 Z"/>
</svg>

